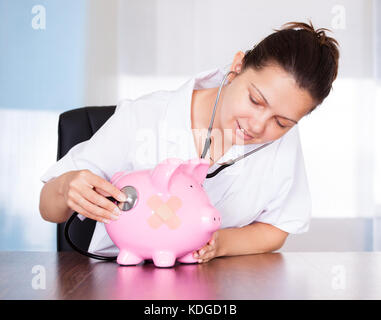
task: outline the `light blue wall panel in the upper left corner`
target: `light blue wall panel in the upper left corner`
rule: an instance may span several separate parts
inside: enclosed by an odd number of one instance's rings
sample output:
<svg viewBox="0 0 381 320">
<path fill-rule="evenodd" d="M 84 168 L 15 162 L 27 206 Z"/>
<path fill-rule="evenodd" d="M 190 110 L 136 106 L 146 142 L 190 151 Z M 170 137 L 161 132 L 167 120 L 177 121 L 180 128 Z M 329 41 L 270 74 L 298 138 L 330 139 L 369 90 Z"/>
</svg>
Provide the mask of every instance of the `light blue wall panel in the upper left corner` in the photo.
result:
<svg viewBox="0 0 381 320">
<path fill-rule="evenodd" d="M 46 28 L 32 19 L 46 12 Z M 83 104 L 86 1 L 0 0 L 0 108 Z"/>
</svg>

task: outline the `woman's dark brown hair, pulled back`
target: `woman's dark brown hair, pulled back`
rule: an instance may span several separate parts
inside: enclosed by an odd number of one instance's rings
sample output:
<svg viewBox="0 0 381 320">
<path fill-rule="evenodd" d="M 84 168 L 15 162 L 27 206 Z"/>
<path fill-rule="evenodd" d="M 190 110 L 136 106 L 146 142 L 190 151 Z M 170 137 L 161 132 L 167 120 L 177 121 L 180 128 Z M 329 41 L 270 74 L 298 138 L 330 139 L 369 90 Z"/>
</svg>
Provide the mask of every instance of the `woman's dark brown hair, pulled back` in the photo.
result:
<svg viewBox="0 0 381 320">
<path fill-rule="evenodd" d="M 309 92 L 315 102 L 311 113 L 328 96 L 337 77 L 339 44 L 325 34 L 329 29 L 315 30 L 309 22 L 288 22 L 280 30 L 273 29 L 276 32 L 245 52 L 242 71 L 279 65 Z"/>
</svg>

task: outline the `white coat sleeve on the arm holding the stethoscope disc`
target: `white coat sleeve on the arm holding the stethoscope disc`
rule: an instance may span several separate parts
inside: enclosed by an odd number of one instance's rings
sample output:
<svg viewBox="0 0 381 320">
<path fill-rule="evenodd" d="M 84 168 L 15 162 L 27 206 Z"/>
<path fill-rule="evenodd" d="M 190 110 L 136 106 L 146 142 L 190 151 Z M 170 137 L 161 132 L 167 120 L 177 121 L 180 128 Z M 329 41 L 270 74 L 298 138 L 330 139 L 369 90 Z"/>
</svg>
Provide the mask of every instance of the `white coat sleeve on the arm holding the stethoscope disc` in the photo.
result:
<svg viewBox="0 0 381 320">
<path fill-rule="evenodd" d="M 114 114 L 89 140 L 72 147 L 40 180 L 45 183 L 68 171 L 88 169 L 109 181 L 115 172 L 128 169 L 129 145 L 134 139 L 131 132 L 136 124 L 132 105 L 132 100 L 120 101 Z"/>
</svg>

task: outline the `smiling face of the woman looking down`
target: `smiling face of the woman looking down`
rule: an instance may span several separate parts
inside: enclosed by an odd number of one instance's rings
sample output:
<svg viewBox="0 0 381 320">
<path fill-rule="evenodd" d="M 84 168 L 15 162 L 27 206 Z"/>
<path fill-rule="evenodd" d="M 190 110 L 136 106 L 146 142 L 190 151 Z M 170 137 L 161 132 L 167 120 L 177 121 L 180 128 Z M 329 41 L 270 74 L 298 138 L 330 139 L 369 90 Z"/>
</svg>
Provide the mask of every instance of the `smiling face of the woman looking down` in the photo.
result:
<svg viewBox="0 0 381 320">
<path fill-rule="evenodd" d="M 239 71 L 239 65 L 235 67 L 232 70 Z M 224 135 L 232 144 L 276 140 L 314 106 L 309 93 L 276 65 L 259 71 L 247 68 L 236 75 L 221 91 L 220 101 L 220 127 L 232 132 Z M 239 127 L 250 137 L 243 136 Z"/>
</svg>

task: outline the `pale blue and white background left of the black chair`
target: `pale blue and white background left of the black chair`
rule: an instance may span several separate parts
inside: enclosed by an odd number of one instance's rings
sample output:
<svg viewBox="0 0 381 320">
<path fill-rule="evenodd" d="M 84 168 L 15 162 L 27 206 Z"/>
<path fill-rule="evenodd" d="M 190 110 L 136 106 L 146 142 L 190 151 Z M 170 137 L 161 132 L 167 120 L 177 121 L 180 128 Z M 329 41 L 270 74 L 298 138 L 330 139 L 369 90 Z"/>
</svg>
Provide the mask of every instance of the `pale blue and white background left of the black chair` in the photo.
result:
<svg viewBox="0 0 381 320">
<path fill-rule="evenodd" d="M 39 178 L 55 161 L 58 114 L 84 104 L 87 4 L 0 0 L 0 250 L 56 248 L 56 225 L 38 210 Z"/>
</svg>

